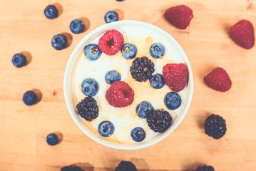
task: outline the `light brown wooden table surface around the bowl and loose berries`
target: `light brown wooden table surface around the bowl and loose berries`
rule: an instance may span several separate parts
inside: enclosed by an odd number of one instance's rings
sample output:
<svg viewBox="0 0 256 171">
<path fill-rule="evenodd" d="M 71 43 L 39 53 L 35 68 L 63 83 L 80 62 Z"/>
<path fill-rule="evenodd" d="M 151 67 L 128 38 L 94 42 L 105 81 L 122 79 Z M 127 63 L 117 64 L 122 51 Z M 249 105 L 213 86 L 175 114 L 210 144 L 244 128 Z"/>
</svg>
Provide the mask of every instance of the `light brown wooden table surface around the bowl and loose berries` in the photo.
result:
<svg viewBox="0 0 256 171">
<path fill-rule="evenodd" d="M 62 7 L 57 19 L 43 14 L 48 4 Z M 194 19 L 185 30 L 168 24 L 163 13 L 185 4 Z M 105 24 L 107 11 L 116 10 L 121 20 L 154 24 L 170 33 L 187 54 L 194 75 L 190 110 L 178 128 L 165 140 L 142 150 L 114 150 L 94 142 L 75 125 L 63 96 L 63 74 L 73 48 L 90 31 Z M 71 164 L 86 170 L 113 170 L 121 160 L 130 160 L 138 170 L 193 170 L 213 165 L 215 170 L 256 170 L 256 46 L 245 50 L 228 36 L 229 26 L 247 19 L 256 27 L 256 1 L 153 1 L 76 0 L 0 1 L 0 170 L 60 170 Z M 69 30 L 73 19 L 86 21 L 86 31 Z M 71 45 L 62 51 L 51 47 L 51 38 L 66 33 Z M 29 56 L 29 65 L 16 68 L 15 53 Z M 220 93 L 205 86 L 203 76 L 214 67 L 225 68 L 232 88 Z M 26 106 L 26 90 L 38 90 L 41 101 Z M 212 114 L 227 121 L 220 140 L 205 135 L 203 123 Z M 56 146 L 46 143 L 48 133 L 59 133 Z"/>
</svg>

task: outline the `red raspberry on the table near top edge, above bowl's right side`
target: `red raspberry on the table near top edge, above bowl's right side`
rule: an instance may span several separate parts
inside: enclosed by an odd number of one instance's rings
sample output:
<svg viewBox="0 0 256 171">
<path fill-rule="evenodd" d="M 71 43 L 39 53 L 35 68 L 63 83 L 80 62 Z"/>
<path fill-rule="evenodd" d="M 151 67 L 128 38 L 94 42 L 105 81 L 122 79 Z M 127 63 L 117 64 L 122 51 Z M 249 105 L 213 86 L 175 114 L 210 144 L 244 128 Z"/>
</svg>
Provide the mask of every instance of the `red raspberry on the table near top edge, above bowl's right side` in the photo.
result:
<svg viewBox="0 0 256 171">
<path fill-rule="evenodd" d="M 180 29 L 187 28 L 194 17 L 192 9 L 185 5 L 174 6 L 166 10 L 164 16 L 170 24 Z"/>
</svg>

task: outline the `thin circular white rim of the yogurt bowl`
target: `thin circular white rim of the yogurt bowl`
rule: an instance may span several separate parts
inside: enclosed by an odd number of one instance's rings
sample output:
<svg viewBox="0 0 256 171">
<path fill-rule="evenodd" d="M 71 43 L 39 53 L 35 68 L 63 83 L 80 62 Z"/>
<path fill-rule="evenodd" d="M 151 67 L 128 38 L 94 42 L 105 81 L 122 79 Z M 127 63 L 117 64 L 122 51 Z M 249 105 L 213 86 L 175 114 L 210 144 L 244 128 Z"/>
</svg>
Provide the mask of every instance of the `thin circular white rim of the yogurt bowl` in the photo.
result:
<svg viewBox="0 0 256 171">
<path fill-rule="evenodd" d="M 170 128 L 170 130 L 168 130 L 168 133 L 165 133 L 165 135 L 160 136 L 160 138 L 156 138 L 154 141 L 150 141 L 147 143 L 143 143 L 143 144 L 135 144 L 133 146 L 128 146 L 128 147 L 124 147 L 124 146 L 118 146 L 116 143 L 106 143 L 103 142 L 101 140 L 98 140 L 97 138 L 95 138 L 94 136 L 91 136 L 89 133 L 87 133 L 87 130 L 85 130 L 83 128 L 83 125 L 81 125 L 80 121 L 78 120 L 78 116 L 77 113 L 74 112 L 73 110 L 73 105 L 71 106 L 71 104 L 73 104 L 73 99 L 72 98 L 68 98 L 68 88 L 71 89 L 71 86 L 68 86 L 69 83 L 71 83 L 71 80 L 68 79 L 69 74 L 71 74 L 70 71 L 73 70 L 73 65 L 76 58 L 78 57 L 77 53 L 79 51 L 79 53 L 81 53 L 81 47 L 84 45 L 84 42 L 90 38 L 91 36 L 93 36 L 93 34 L 98 33 L 99 31 L 103 31 L 108 29 L 109 27 L 113 27 L 113 26 L 118 26 L 120 24 L 136 24 L 136 25 L 143 25 L 145 27 L 149 27 L 149 28 L 153 28 L 155 30 L 160 31 L 161 33 L 163 33 L 165 36 L 167 36 L 168 38 L 170 38 L 170 40 L 172 40 L 172 42 L 175 44 L 175 46 L 177 46 L 178 50 L 180 51 L 180 53 L 182 53 L 183 58 L 185 58 L 185 63 L 188 67 L 188 72 L 189 72 L 189 84 L 190 84 L 190 91 L 189 91 L 189 95 L 188 95 L 188 104 L 185 107 L 184 113 L 183 115 L 181 115 L 180 119 L 176 121 L 175 125 L 172 125 L 172 127 Z M 114 149 L 118 149 L 118 150 L 138 150 L 138 149 L 142 149 L 145 147 L 149 147 L 151 145 L 155 145 L 156 143 L 160 142 L 161 140 L 165 139 L 166 137 L 168 137 L 168 135 L 170 135 L 170 133 L 173 133 L 173 131 L 178 127 L 178 125 L 180 125 L 180 123 L 183 121 L 183 119 L 185 118 L 185 115 L 187 115 L 188 110 L 190 108 L 191 105 L 191 101 L 193 98 L 193 73 L 192 73 L 192 68 L 190 66 L 190 62 L 188 61 L 188 57 L 186 56 L 185 52 L 183 51 L 183 48 L 180 46 L 180 44 L 175 40 L 175 38 L 173 38 L 173 36 L 170 36 L 169 33 L 167 33 L 166 31 L 164 31 L 162 28 L 159 28 L 158 26 L 154 26 L 153 24 L 148 24 L 145 23 L 143 21 L 133 21 L 133 20 L 124 20 L 124 21 L 115 21 L 109 24 L 104 24 L 102 26 L 99 26 L 98 28 L 93 29 L 93 31 L 91 31 L 90 33 L 88 33 L 86 36 L 84 36 L 82 38 L 82 40 L 76 45 L 76 47 L 73 49 L 71 56 L 68 58 L 68 62 L 66 64 L 66 69 L 65 69 L 65 73 L 64 73 L 64 78 L 63 78 L 63 93 L 64 93 L 64 98 L 65 98 L 65 102 L 66 102 L 66 106 L 68 108 L 68 113 L 71 115 L 71 118 L 73 119 L 73 121 L 76 123 L 76 125 L 78 126 L 78 128 L 80 128 L 80 130 L 86 134 L 88 136 L 88 138 L 91 138 L 92 140 L 100 143 L 101 145 L 105 145 L 106 147 L 111 147 Z"/>
</svg>

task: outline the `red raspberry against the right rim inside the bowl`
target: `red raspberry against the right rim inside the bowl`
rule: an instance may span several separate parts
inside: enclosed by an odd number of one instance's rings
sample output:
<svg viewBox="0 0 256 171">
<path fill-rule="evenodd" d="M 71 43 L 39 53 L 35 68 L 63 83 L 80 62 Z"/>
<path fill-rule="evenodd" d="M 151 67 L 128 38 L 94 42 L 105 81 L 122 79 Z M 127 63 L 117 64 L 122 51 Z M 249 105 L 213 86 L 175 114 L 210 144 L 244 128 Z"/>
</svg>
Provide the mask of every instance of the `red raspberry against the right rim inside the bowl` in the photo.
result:
<svg viewBox="0 0 256 171">
<path fill-rule="evenodd" d="M 188 68 L 183 63 L 168 63 L 163 67 L 165 84 L 175 92 L 179 92 L 188 84 Z"/>
</svg>

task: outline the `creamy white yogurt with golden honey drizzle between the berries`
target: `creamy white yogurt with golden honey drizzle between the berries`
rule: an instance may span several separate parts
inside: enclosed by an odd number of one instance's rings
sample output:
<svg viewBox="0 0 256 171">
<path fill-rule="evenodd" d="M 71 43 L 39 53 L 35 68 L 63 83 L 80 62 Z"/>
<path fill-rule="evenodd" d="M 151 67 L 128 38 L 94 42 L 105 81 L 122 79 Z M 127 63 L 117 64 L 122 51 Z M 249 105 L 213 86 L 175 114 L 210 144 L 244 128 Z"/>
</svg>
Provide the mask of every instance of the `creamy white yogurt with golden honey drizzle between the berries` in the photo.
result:
<svg viewBox="0 0 256 171">
<path fill-rule="evenodd" d="M 138 27 L 138 26 L 137 26 Z M 163 66 L 167 63 L 185 63 L 185 59 L 175 46 L 173 46 L 168 38 L 165 38 L 160 33 L 155 33 L 153 31 L 147 30 L 146 28 L 136 28 L 136 26 L 127 26 L 126 28 L 116 28 L 123 34 L 125 43 L 132 43 L 138 49 L 136 57 L 146 56 L 153 61 L 155 64 L 155 73 L 162 74 Z M 98 44 L 99 38 L 103 33 L 91 41 L 91 43 Z M 150 56 L 149 49 L 153 43 L 162 43 L 165 46 L 165 55 L 163 58 L 153 58 Z M 86 46 L 86 45 L 85 45 Z M 135 57 L 135 58 L 136 58 Z M 123 58 L 121 51 L 119 51 L 115 56 L 108 56 L 102 53 L 101 57 L 96 61 L 89 61 L 81 51 L 78 58 L 76 58 L 76 63 L 73 67 L 72 77 L 71 77 L 71 90 L 73 94 L 73 103 L 77 105 L 86 95 L 82 93 L 81 83 L 86 78 L 94 78 L 99 85 L 98 93 L 93 96 L 97 101 L 99 108 L 98 118 L 89 122 L 82 118 L 83 123 L 91 130 L 92 134 L 98 138 L 103 138 L 111 142 L 117 143 L 140 143 L 135 142 L 130 136 L 130 131 L 135 127 L 141 127 L 145 130 L 145 140 L 146 142 L 160 133 L 155 133 L 150 130 L 146 119 L 138 117 L 136 114 L 136 107 L 142 101 L 148 101 L 153 105 L 153 108 L 168 111 L 173 118 L 173 121 L 178 117 L 180 112 L 185 108 L 183 101 L 188 98 L 188 88 L 179 92 L 182 103 L 180 107 L 176 110 L 169 110 L 164 104 L 164 97 L 167 93 L 171 92 L 168 86 L 164 86 L 160 89 L 155 89 L 150 86 L 149 81 L 138 82 L 135 81 L 130 75 L 130 66 L 133 59 Z M 105 81 L 105 75 L 108 71 L 116 70 L 121 73 L 121 81 L 125 81 L 134 91 L 133 103 L 125 108 L 115 108 L 108 104 L 106 100 L 106 90 L 111 86 Z M 98 133 L 98 125 L 103 120 L 109 120 L 113 123 L 115 127 L 115 132 L 108 138 L 104 138 Z M 172 125 L 171 125 L 172 126 Z M 170 127 L 171 127 L 170 126 Z"/>
</svg>

